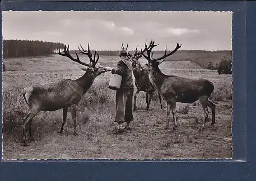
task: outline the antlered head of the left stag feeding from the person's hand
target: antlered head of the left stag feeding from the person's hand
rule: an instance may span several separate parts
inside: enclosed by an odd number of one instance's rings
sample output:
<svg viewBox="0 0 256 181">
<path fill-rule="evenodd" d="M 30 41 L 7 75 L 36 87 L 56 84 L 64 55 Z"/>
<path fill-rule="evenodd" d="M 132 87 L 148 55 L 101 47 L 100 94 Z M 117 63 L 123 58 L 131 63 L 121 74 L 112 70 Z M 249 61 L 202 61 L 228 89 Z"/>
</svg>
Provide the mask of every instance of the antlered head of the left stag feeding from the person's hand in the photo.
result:
<svg viewBox="0 0 256 181">
<path fill-rule="evenodd" d="M 108 72 L 108 71 L 112 70 L 112 68 L 110 68 L 110 67 L 104 67 L 104 66 L 97 66 L 96 65 L 97 61 L 99 60 L 99 54 L 95 51 L 94 58 L 92 59 L 92 54 L 90 52 L 90 45 L 89 44 L 88 44 L 88 51 L 85 51 L 83 49 L 82 45 L 80 45 L 80 46 L 81 46 L 82 50 L 80 50 L 80 47 L 78 47 L 78 49 L 79 49 L 81 54 L 85 54 L 85 55 L 87 55 L 89 57 L 89 60 L 90 60 L 89 64 L 83 63 L 82 61 L 80 61 L 80 59 L 79 59 L 79 57 L 78 57 L 76 52 L 75 52 L 76 53 L 76 59 L 73 58 L 69 54 L 69 45 L 68 45 L 68 47 L 66 47 L 66 45 L 65 45 L 64 53 L 60 53 L 60 50 L 59 50 L 58 54 L 62 55 L 62 56 L 66 56 L 67 58 L 69 58 L 69 59 L 71 59 L 71 60 L 73 60 L 73 61 L 75 61 L 75 62 L 77 62 L 77 63 L 79 63 L 81 65 L 84 65 L 84 66 L 80 67 L 80 69 L 86 71 L 87 73 L 92 73 L 92 74 L 94 74 L 96 76 L 100 75 L 101 73 L 105 73 L 105 72 Z M 97 59 L 95 60 L 96 55 L 97 55 Z"/>
</svg>

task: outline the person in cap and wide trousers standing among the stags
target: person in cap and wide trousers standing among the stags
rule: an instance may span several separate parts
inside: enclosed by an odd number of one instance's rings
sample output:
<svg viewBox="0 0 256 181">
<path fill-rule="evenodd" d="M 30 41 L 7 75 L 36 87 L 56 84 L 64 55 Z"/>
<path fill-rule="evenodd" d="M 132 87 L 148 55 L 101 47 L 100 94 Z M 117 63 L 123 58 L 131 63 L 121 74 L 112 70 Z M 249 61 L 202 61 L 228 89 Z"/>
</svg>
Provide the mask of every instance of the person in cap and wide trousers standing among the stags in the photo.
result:
<svg viewBox="0 0 256 181">
<path fill-rule="evenodd" d="M 115 96 L 115 122 L 118 123 L 118 129 L 113 134 L 120 134 L 124 129 L 131 130 L 130 122 L 133 121 L 132 100 L 133 100 L 133 78 L 132 78 L 132 60 L 128 56 L 126 49 L 120 50 L 120 60 L 117 69 L 112 70 L 112 74 L 122 76 L 120 88 Z M 123 127 L 123 122 L 126 126 Z"/>
</svg>

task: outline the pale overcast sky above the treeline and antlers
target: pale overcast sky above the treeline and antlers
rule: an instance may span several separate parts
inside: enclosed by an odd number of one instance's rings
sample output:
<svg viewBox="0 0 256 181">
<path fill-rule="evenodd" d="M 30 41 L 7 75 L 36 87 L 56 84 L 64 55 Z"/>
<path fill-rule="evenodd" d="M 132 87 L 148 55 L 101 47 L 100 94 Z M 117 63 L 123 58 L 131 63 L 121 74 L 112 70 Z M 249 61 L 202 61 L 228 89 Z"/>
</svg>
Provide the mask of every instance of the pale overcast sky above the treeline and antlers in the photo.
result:
<svg viewBox="0 0 256 181">
<path fill-rule="evenodd" d="M 76 12 L 4 11 L 3 39 L 43 40 L 82 44 L 96 50 L 129 50 L 154 39 L 155 50 L 231 50 L 232 12 Z"/>
</svg>

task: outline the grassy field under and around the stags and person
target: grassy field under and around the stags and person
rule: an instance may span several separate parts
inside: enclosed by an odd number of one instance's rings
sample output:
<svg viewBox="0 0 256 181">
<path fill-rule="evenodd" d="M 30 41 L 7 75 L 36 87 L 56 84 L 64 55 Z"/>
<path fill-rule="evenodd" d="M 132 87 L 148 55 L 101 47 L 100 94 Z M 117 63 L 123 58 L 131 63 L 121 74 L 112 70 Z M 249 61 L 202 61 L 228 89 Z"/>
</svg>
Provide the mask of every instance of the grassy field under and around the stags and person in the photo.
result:
<svg viewBox="0 0 256 181">
<path fill-rule="evenodd" d="M 88 61 L 88 60 L 86 60 Z M 99 63 L 115 67 L 118 57 L 100 56 Z M 145 63 L 144 60 L 141 60 Z M 64 134 L 57 131 L 62 122 L 62 110 L 40 112 L 32 122 L 34 142 L 28 147 L 20 144 L 22 118 L 27 107 L 21 90 L 34 83 L 46 83 L 63 78 L 75 79 L 84 72 L 79 64 L 58 55 L 41 58 L 4 59 L 3 72 L 3 159 L 185 159 L 232 157 L 232 89 L 231 75 L 218 75 L 216 70 L 205 70 L 188 60 L 166 61 L 162 72 L 185 77 L 211 80 L 215 90 L 211 99 L 216 103 L 216 125 L 206 123 L 199 131 L 203 111 L 199 102 L 178 103 L 178 128 L 164 130 L 166 104 L 160 109 L 157 95 L 146 112 L 145 93 L 137 97 L 138 110 L 134 112 L 132 131 L 112 135 L 117 126 L 115 91 L 108 88 L 110 73 L 101 74 L 83 96 L 77 107 L 77 132 L 73 136 L 73 122 L 68 112 Z M 170 124 L 173 124 L 170 122 Z"/>
</svg>

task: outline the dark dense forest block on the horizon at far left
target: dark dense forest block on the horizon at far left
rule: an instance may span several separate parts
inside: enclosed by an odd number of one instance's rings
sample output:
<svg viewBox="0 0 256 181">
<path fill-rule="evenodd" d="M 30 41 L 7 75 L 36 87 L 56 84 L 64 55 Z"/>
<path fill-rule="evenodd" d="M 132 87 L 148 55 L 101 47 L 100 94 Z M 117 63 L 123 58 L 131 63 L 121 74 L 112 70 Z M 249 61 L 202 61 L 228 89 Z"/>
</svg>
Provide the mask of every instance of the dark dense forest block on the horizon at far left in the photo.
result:
<svg viewBox="0 0 256 181">
<path fill-rule="evenodd" d="M 3 40 L 3 58 L 49 56 L 64 47 L 60 42 L 34 40 Z"/>
</svg>

